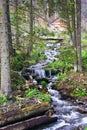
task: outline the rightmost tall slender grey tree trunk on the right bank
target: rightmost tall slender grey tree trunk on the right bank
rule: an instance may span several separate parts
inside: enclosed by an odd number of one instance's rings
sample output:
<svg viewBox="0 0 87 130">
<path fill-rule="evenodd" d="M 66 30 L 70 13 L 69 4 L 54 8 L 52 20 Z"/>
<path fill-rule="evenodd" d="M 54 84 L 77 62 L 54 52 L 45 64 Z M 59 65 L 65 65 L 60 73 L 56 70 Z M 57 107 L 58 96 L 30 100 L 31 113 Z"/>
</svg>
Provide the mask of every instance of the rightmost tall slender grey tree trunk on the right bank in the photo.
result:
<svg viewBox="0 0 87 130">
<path fill-rule="evenodd" d="M 81 55 L 81 0 L 76 1 L 77 5 L 77 53 L 78 53 L 78 71 L 82 71 Z"/>
</svg>

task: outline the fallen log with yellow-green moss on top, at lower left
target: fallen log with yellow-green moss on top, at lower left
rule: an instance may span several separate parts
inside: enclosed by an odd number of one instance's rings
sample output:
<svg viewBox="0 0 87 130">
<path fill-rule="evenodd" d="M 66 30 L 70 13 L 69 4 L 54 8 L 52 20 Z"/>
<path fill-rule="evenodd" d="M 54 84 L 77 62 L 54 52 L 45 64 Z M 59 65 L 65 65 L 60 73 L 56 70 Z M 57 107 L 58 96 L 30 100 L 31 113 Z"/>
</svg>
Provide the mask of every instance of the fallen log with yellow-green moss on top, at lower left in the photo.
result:
<svg viewBox="0 0 87 130">
<path fill-rule="evenodd" d="M 35 104 L 26 108 L 16 109 L 13 111 L 8 111 L 6 113 L 0 114 L 0 127 L 16 123 L 18 121 L 23 121 L 32 117 L 43 115 L 46 111 L 51 109 L 49 103 Z"/>
</svg>

